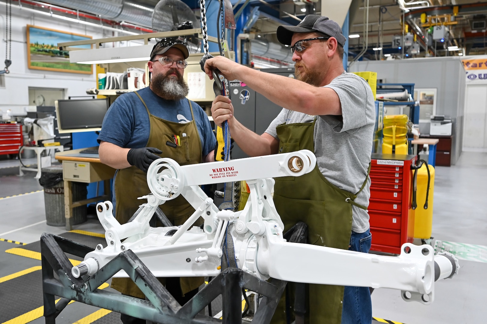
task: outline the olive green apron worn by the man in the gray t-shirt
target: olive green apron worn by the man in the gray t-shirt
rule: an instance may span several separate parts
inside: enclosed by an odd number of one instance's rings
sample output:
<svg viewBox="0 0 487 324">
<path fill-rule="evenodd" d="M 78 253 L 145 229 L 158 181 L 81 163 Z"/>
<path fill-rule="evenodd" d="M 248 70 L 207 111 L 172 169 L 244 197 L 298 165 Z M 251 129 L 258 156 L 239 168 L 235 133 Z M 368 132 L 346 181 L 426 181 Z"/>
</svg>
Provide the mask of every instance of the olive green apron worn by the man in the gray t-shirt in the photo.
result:
<svg viewBox="0 0 487 324">
<path fill-rule="evenodd" d="M 316 118 L 310 123 L 282 124 L 277 127 L 280 140 L 279 153 L 310 150 L 315 152 L 314 129 Z M 369 166 L 370 171 L 370 166 Z M 368 172 L 360 191 L 367 183 Z M 308 225 L 308 244 L 330 248 L 348 249 L 352 232 L 352 205 L 356 194 L 331 184 L 319 171 L 318 164 L 312 172 L 299 177 L 275 178 L 274 203 L 284 223 L 284 232 L 302 221 Z M 292 260 L 290 260 L 292 262 Z M 294 285 L 290 285 L 289 311 L 294 317 Z M 340 324 L 343 286 L 309 285 L 306 296 L 305 323 Z M 274 313 L 272 322 L 286 323 L 285 296 Z"/>
</svg>

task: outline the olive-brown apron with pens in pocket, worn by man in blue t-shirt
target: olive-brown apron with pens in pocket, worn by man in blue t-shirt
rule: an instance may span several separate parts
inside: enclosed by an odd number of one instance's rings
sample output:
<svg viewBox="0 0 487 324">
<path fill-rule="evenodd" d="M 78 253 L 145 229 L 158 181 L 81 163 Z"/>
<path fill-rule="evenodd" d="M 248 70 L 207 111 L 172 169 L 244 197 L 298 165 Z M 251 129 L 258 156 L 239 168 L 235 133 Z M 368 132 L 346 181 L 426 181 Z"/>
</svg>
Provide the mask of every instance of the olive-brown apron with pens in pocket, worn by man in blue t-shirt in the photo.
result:
<svg viewBox="0 0 487 324">
<path fill-rule="evenodd" d="M 135 92 L 135 94 L 142 101 L 149 114 L 150 134 L 146 147 L 155 147 L 161 150 L 162 154 L 158 155 L 161 157 L 169 157 L 180 165 L 201 163 L 201 141 L 194 120 L 191 101 L 188 100 L 192 120 L 187 124 L 180 124 L 150 114 L 142 97 L 137 92 Z M 183 133 L 186 133 L 186 136 L 183 137 Z M 180 146 L 172 147 L 166 145 L 167 141 L 174 143 L 174 139 L 172 138 L 173 134 L 180 136 Z M 116 197 L 115 218 L 120 224 L 125 224 L 135 211 L 137 211 L 139 205 L 144 203 L 137 198 L 150 193 L 149 186 L 147 185 L 147 173 L 135 166 L 120 169 L 116 174 L 114 187 Z M 182 225 L 194 212 L 194 208 L 183 196 L 168 200 L 159 207 L 168 216 L 169 221 L 175 226 Z M 198 222 L 201 222 L 201 218 L 196 223 Z M 159 281 L 164 285 L 166 283 L 165 279 L 166 278 L 159 278 Z M 187 292 L 201 286 L 203 282 L 204 278 L 202 277 L 181 278 L 180 284 L 183 296 Z M 125 295 L 142 299 L 145 298 L 142 291 L 130 278 L 113 278 L 112 288 Z"/>
</svg>

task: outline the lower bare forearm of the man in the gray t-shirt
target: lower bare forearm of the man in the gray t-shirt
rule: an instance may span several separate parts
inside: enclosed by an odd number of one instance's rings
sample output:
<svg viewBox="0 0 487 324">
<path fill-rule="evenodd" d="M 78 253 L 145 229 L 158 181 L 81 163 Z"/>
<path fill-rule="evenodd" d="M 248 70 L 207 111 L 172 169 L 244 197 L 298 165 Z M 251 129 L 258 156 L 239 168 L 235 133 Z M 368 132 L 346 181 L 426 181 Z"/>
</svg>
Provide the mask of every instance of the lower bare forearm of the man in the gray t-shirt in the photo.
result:
<svg viewBox="0 0 487 324">
<path fill-rule="evenodd" d="M 237 145 L 242 149 L 242 151 L 249 156 L 261 156 L 277 153 L 277 145 L 272 145 L 269 139 L 252 132 L 236 119 L 234 119 L 230 128 L 230 135 L 235 140 L 235 143 L 237 143 Z M 277 144 L 279 144 L 279 142 L 277 142 Z"/>
</svg>

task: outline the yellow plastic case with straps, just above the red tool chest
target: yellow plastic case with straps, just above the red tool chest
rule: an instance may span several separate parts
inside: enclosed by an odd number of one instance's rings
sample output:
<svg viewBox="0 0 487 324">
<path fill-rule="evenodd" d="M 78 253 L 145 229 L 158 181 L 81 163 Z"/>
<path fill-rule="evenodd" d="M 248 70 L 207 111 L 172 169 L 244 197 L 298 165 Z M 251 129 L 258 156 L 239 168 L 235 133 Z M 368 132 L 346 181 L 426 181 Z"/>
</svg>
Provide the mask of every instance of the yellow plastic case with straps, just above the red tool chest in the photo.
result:
<svg viewBox="0 0 487 324">
<path fill-rule="evenodd" d="M 382 153 L 408 154 L 408 116 L 384 116 Z"/>
</svg>

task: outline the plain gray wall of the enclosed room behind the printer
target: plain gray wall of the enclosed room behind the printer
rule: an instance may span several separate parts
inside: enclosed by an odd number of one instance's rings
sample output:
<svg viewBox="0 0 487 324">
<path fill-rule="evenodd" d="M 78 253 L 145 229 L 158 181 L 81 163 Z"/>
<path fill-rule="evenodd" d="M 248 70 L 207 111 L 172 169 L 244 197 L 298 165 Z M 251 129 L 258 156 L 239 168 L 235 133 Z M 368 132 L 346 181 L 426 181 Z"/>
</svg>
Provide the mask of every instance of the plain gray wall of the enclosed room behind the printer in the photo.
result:
<svg viewBox="0 0 487 324">
<path fill-rule="evenodd" d="M 387 83 L 414 83 L 415 88 L 436 88 L 436 114 L 452 117 L 452 158 L 455 164 L 462 152 L 465 104 L 465 70 L 462 57 L 427 57 L 384 61 L 358 61 L 350 72 L 374 71 L 378 79 Z M 429 133 L 429 125 L 420 125 L 422 133 Z"/>
</svg>

